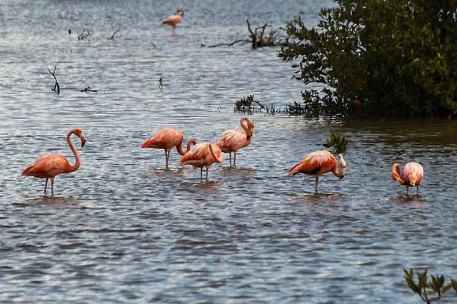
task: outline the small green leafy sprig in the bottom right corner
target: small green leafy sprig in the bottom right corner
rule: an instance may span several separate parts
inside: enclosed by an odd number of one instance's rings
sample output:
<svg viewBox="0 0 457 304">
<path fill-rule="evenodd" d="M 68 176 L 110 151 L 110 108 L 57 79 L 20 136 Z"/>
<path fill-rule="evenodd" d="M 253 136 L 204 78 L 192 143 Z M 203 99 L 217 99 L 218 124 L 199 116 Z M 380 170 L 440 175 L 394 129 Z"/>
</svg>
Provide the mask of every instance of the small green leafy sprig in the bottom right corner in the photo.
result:
<svg viewBox="0 0 457 304">
<path fill-rule="evenodd" d="M 410 270 L 403 269 L 403 272 L 409 289 L 413 290 L 427 304 L 441 299 L 441 296 L 451 289 L 457 293 L 457 280 L 450 279 L 450 283 L 444 285 L 443 275 L 431 275 L 431 280 L 428 280 L 427 270 L 424 270 L 423 273 L 416 273 L 418 279 L 416 283 L 412 268 Z"/>
</svg>

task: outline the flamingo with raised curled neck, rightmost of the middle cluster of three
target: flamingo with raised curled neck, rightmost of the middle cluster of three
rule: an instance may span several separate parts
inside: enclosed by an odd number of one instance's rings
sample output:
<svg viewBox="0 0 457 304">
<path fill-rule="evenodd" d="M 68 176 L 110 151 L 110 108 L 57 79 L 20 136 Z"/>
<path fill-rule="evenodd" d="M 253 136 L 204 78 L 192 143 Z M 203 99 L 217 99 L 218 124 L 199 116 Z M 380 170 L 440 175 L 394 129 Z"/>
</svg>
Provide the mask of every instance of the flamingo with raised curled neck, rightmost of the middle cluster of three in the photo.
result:
<svg viewBox="0 0 457 304">
<path fill-rule="evenodd" d="M 240 119 L 240 125 L 243 130 L 235 129 L 225 131 L 222 133 L 219 141 L 216 142 L 216 145 L 221 147 L 222 152 L 230 153 L 230 166 L 231 153 L 233 152 L 233 166 L 236 166 L 236 152 L 251 143 L 252 131 L 254 128 L 254 124 L 252 123 L 251 119 L 242 117 Z"/>
</svg>

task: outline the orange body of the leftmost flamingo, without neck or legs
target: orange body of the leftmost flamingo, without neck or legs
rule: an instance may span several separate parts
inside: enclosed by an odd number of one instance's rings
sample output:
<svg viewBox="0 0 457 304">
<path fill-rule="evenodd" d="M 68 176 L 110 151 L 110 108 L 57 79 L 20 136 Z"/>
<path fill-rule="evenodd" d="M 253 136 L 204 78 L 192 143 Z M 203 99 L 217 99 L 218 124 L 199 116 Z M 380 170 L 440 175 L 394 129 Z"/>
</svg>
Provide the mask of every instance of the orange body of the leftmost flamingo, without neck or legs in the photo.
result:
<svg viewBox="0 0 457 304">
<path fill-rule="evenodd" d="M 22 172 L 23 176 L 35 176 L 39 178 L 54 178 L 68 172 L 70 167 L 68 159 L 63 155 L 49 154 L 38 158 L 33 165 Z"/>
</svg>

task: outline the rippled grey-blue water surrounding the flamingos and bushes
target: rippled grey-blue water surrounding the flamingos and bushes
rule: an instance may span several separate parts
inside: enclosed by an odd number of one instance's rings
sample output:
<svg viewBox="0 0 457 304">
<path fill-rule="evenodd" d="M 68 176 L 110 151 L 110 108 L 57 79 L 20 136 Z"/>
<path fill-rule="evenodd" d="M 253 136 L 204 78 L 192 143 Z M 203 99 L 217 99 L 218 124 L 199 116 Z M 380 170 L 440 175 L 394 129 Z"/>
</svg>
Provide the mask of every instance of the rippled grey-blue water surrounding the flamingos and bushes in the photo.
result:
<svg viewBox="0 0 457 304">
<path fill-rule="evenodd" d="M 402 268 L 455 278 L 456 123 L 256 114 L 238 168 L 226 155 L 209 183 L 176 151 L 164 171 L 163 151 L 140 148 L 166 126 L 214 142 L 238 127 L 233 103 L 251 93 L 298 101 L 303 86 L 278 49 L 201 44 L 247 36 L 246 19 L 276 28 L 302 10 L 316 24 L 323 4 L 2 1 L 0 301 L 420 303 Z M 171 37 L 160 21 L 176 8 L 186 14 Z M 112 25 L 121 31 L 109 41 Z M 78 41 L 83 29 L 92 34 Z M 74 127 L 87 138 L 81 167 L 42 196 L 44 180 L 21 171 L 44 153 L 73 162 Z M 323 176 L 314 196 L 313 177 L 287 171 L 330 130 L 349 140 L 347 175 Z M 408 161 L 426 172 L 420 196 L 391 179 Z"/>
</svg>

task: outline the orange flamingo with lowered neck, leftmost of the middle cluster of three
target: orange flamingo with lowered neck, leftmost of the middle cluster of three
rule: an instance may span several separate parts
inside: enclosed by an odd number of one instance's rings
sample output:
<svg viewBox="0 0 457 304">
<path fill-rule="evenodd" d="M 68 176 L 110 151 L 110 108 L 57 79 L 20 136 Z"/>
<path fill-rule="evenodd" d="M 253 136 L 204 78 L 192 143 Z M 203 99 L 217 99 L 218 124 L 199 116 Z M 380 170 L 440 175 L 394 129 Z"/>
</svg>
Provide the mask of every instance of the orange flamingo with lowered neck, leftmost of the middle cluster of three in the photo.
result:
<svg viewBox="0 0 457 304">
<path fill-rule="evenodd" d="M 171 149 L 176 147 L 176 151 L 179 154 L 184 155 L 191 149 L 191 144 L 196 144 L 194 139 L 191 139 L 187 142 L 186 151 L 183 151 L 182 143 L 183 143 L 184 135 L 181 131 L 176 128 L 163 128 L 157 133 L 154 134 L 149 139 L 141 145 L 141 148 L 157 148 L 157 149 L 164 149 L 165 151 L 165 168 L 166 170 L 169 169 L 169 158 Z"/>
</svg>

